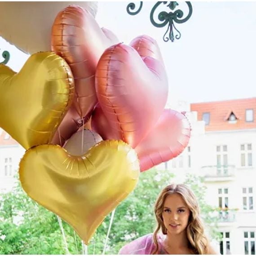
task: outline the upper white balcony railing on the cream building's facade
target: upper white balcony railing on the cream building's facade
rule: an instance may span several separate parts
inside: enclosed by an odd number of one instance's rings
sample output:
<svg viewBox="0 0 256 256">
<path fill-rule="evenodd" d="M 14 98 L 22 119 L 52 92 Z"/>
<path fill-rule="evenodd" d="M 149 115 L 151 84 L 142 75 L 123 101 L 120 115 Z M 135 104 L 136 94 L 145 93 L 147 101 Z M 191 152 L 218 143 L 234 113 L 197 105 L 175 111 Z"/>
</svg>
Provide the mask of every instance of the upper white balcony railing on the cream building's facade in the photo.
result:
<svg viewBox="0 0 256 256">
<path fill-rule="evenodd" d="M 202 176 L 209 177 L 234 177 L 234 165 L 209 165 L 201 168 Z"/>
</svg>

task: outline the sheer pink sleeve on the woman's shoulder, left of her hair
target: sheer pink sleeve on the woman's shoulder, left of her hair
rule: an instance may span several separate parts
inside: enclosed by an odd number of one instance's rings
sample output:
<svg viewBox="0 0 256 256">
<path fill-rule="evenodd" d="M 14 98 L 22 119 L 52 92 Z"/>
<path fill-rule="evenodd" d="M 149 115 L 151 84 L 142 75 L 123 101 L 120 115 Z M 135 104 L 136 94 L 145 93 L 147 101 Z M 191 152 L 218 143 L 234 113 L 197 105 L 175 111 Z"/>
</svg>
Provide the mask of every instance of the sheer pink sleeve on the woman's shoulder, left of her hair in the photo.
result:
<svg viewBox="0 0 256 256">
<path fill-rule="evenodd" d="M 119 254 L 151 254 L 154 248 L 153 234 L 147 234 L 126 244 Z"/>
</svg>

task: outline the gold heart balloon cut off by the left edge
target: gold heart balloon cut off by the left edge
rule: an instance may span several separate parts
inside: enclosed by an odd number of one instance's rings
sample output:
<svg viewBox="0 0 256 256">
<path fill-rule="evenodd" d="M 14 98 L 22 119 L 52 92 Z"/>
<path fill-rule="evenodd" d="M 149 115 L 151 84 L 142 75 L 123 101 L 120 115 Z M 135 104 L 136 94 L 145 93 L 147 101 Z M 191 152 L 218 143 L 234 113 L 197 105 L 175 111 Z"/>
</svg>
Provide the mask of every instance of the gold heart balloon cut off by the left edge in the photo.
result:
<svg viewBox="0 0 256 256">
<path fill-rule="evenodd" d="M 0 127 L 25 149 L 47 144 L 73 95 L 71 70 L 55 53 L 31 55 L 19 73 L 0 65 Z"/>
</svg>

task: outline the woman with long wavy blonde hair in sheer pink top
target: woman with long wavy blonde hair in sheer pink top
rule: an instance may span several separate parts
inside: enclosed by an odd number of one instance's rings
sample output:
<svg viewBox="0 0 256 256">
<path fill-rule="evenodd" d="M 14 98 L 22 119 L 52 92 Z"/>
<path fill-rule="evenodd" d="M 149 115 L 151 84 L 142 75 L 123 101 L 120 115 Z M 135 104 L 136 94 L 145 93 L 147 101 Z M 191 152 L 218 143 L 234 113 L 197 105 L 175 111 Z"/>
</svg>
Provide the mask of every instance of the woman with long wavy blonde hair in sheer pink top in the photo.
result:
<svg viewBox="0 0 256 256">
<path fill-rule="evenodd" d="M 199 205 L 188 186 L 165 187 L 156 200 L 154 214 L 154 234 L 128 243 L 119 254 L 216 254 L 204 234 Z"/>
</svg>

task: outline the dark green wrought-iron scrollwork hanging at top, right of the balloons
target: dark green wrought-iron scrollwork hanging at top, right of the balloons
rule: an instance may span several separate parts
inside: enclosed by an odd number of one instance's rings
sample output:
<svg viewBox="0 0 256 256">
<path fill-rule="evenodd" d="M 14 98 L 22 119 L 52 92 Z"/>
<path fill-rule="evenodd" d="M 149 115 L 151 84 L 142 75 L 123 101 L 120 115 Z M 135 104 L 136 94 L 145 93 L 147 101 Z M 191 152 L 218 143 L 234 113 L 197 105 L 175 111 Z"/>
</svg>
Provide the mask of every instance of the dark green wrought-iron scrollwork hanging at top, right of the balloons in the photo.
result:
<svg viewBox="0 0 256 256">
<path fill-rule="evenodd" d="M 174 41 L 174 39 L 180 39 L 181 38 L 181 32 L 177 30 L 176 26 L 174 25 L 174 22 L 176 23 L 184 23 L 186 22 L 192 15 L 192 4 L 190 2 L 185 2 L 188 5 L 189 8 L 189 13 L 187 14 L 187 16 L 185 18 L 183 18 L 183 11 L 181 9 L 177 9 L 177 6 L 179 5 L 177 2 L 157 2 L 151 12 L 150 12 L 150 21 L 151 23 L 156 26 L 156 27 L 163 27 L 168 25 L 167 31 L 165 32 L 165 34 L 163 35 L 163 40 L 165 42 L 168 42 L 169 40 L 171 40 L 172 42 Z M 130 3 L 127 6 L 127 12 L 131 15 L 136 15 L 141 11 L 142 8 L 142 4 L 143 2 L 140 2 L 140 6 L 139 9 L 135 12 L 132 12 L 132 10 L 135 9 L 135 4 L 134 3 Z M 166 7 L 168 7 L 170 10 L 170 12 L 160 12 L 158 15 L 158 19 L 159 22 L 156 22 L 154 20 L 154 12 L 155 10 L 159 7 L 160 4 L 167 4 Z M 175 11 L 174 11 L 175 10 Z M 177 34 L 174 37 L 174 33 L 173 31 L 176 31 Z"/>
</svg>

